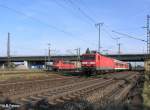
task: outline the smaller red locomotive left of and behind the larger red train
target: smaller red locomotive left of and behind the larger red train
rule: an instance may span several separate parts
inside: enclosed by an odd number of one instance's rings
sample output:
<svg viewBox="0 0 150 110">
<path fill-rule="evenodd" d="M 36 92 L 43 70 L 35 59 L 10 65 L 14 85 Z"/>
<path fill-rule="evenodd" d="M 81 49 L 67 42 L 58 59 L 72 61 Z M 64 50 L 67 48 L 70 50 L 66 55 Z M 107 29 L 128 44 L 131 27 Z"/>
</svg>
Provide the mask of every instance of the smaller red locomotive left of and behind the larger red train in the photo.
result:
<svg viewBox="0 0 150 110">
<path fill-rule="evenodd" d="M 59 70 L 75 70 L 76 66 L 74 63 L 70 63 L 69 61 L 64 60 L 55 60 L 53 62 L 52 69 L 55 71 Z"/>
</svg>

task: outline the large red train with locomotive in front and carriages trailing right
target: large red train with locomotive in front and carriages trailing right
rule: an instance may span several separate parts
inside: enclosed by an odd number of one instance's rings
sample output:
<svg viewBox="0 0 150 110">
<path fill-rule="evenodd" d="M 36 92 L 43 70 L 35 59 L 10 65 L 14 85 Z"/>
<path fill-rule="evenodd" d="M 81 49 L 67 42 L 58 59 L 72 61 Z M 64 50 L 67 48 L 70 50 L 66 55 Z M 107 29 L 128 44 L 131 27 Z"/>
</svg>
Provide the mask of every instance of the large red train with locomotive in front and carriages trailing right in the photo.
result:
<svg viewBox="0 0 150 110">
<path fill-rule="evenodd" d="M 81 58 L 81 68 L 86 74 L 129 69 L 128 63 L 106 57 L 98 52 L 85 53 Z"/>
</svg>

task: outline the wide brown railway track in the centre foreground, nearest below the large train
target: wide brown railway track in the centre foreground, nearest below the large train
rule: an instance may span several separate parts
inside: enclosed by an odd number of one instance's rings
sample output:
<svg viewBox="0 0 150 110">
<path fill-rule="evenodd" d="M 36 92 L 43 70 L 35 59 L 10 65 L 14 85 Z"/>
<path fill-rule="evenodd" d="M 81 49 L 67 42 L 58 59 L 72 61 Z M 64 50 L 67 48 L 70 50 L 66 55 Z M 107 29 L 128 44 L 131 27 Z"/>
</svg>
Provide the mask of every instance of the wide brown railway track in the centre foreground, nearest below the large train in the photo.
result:
<svg viewBox="0 0 150 110">
<path fill-rule="evenodd" d="M 53 89 L 46 89 L 38 92 L 33 92 L 31 94 L 24 94 L 12 97 L 13 100 L 18 102 L 19 104 L 24 103 L 32 103 L 40 101 L 41 99 L 47 99 L 49 103 L 60 103 L 64 102 L 64 100 L 74 99 L 81 95 L 86 95 L 90 91 L 93 91 L 97 88 L 104 87 L 107 84 L 112 83 L 112 79 L 109 80 L 90 80 L 90 81 L 82 81 L 74 84 L 69 84 L 61 87 L 56 87 Z"/>
</svg>

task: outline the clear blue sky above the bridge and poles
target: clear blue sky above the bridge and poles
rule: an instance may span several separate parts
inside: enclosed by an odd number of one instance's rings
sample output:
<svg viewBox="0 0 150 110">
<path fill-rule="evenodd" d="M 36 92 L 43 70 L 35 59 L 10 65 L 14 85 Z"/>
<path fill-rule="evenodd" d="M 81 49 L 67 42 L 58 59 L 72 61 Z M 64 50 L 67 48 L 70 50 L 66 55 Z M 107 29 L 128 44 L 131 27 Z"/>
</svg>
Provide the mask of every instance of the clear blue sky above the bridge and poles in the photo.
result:
<svg viewBox="0 0 150 110">
<path fill-rule="evenodd" d="M 145 53 L 146 43 L 112 32 L 145 39 L 150 0 L 0 0 L 0 56 L 6 56 L 10 32 L 11 55 L 75 54 L 76 48 L 97 50 L 101 26 L 101 52 Z"/>
</svg>

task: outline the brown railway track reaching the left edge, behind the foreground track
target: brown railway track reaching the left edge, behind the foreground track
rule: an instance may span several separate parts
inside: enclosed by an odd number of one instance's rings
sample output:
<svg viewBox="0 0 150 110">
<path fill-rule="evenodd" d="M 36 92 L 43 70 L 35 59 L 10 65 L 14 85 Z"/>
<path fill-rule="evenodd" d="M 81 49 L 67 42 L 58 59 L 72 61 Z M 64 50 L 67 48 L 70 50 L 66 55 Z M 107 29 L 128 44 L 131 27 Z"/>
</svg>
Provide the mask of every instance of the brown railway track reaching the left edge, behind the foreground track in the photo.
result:
<svg viewBox="0 0 150 110">
<path fill-rule="evenodd" d="M 42 89 L 53 88 L 56 86 L 66 85 L 66 84 L 70 84 L 82 80 L 86 80 L 86 79 L 69 77 L 69 78 L 23 81 L 23 82 L 16 82 L 16 83 L 4 83 L 4 84 L 0 84 L 0 92 L 4 97 L 11 97 L 17 94 L 23 94 L 32 91 L 40 91 Z"/>
</svg>

